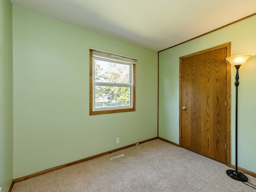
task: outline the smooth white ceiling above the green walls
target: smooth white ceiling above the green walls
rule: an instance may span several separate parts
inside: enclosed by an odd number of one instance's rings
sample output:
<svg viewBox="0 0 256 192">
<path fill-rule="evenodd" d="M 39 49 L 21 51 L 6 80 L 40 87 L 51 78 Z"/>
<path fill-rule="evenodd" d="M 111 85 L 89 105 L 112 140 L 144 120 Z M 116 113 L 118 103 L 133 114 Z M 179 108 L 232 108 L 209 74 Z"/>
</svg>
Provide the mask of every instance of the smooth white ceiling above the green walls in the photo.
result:
<svg viewBox="0 0 256 192">
<path fill-rule="evenodd" d="M 11 0 L 14 6 L 160 51 L 256 13 L 256 0 Z"/>
</svg>

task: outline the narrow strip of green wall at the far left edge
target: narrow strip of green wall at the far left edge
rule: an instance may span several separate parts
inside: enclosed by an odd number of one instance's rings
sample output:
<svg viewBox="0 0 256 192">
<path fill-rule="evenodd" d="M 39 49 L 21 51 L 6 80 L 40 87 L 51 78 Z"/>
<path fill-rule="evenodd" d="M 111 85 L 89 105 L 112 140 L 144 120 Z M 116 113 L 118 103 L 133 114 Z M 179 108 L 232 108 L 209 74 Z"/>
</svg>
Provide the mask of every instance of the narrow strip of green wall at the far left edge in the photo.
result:
<svg viewBox="0 0 256 192">
<path fill-rule="evenodd" d="M 0 187 L 13 180 L 12 4 L 0 1 Z"/>
</svg>

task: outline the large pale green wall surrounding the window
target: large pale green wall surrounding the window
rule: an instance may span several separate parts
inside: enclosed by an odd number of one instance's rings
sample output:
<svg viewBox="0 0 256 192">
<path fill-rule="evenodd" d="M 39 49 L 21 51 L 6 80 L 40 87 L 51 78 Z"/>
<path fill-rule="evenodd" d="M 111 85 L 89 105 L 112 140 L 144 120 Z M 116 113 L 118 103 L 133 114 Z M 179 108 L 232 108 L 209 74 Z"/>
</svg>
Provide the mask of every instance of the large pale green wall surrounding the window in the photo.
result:
<svg viewBox="0 0 256 192">
<path fill-rule="evenodd" d="M 138 59 L 136 112 L 89 116 L 90 48 Z M 14 178 L 157 136 L 156 51 L 14 6 L 13 54 Z"/>
</svg>

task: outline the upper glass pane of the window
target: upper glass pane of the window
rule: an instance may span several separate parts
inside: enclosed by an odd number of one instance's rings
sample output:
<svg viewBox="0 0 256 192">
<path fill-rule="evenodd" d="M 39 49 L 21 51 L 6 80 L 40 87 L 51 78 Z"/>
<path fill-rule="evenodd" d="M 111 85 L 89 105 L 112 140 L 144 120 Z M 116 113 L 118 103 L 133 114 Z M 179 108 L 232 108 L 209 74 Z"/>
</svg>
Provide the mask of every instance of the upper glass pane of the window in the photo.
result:
<svg viewBox="0 0 256 192">
<path fill-rule="evenodd" d="M 94 60 L 94 80 L 130 84 L 130 65 Z"/>
</svg>

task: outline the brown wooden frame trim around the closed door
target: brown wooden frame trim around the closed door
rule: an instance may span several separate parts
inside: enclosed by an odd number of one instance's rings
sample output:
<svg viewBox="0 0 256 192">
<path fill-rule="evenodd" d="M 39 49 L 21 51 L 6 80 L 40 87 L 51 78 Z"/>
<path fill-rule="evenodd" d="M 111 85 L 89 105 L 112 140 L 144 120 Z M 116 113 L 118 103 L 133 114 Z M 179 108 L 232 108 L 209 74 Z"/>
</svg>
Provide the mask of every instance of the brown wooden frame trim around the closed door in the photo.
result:
<svg viewBox="0 0 256 192">
<path fill-rule="evenodd" d="M 196 55 L 200 55 L 200 54 L 204 54 L 206 52 L 211 52 L 214 50 L 218 50 L 218 49 L 222 49 L 222 48 L 227 48 L 227 57 L 231 56 L 231 42 L 213 47 L 213 48 L 209 48 L 206 50 L 202 50 L 196 53 L 192 53 L 186 56 L 182 56 L 180 57 L 180 65 L 179 65 L 179 71 L 180 71 L 180 77 L 179 77 L 179 84 L 180 84 L 180 89 L 179 89 L 179 94 L 180 94 L 180 100 L 179 100 L 179 126 L 180 126 L 180 141 L 179 141 L 179 146 L 182 147 L 182 94 L 181 94 L 181 90 L 182 90 L 182 84 L 181 84 L 181 61 L 184 58 L 188 58 L 188 57 L 192 57 L 192 56 L 196 56 Z M 231 166 L 231 141 L 230 141 L 230 91 L 231 91 L 231 67 L 230 67 L 230 63 L 227 62 L 226 65 L 226 69 L 227 69 L 227 77 L 226 77 L 226 100 L 227 100 L 227 106 L 226 106 L 226 143 L 227 143 L 227 151 L 226 151 L 226 165 L 227 166 Z"/>
</svg>

